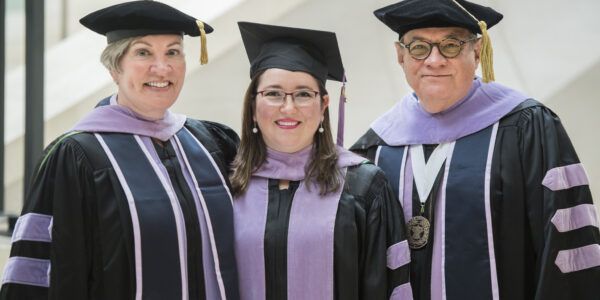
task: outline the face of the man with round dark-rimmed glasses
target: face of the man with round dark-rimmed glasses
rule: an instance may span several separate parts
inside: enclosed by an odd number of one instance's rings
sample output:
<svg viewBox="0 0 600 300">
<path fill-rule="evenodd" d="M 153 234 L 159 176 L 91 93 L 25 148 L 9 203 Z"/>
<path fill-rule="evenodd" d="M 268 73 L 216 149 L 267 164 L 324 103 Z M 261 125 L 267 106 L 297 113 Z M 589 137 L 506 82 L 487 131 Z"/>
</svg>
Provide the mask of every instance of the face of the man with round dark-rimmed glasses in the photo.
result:
<svg viewBox="0 0 600 300">
<path fill-rule="evenodd" d="M 439 43 L 447 38 L 467 40 L 470 33 L 460 27 L 420 28 L 407 32 L 403 43 L 423 40 Z M 406 81 L 419 97 L 423 108 L 438 113 L 460 101 L 471 89 L 479 64 L 481 40 L 463 45 L 460 54 L 453 58 L 442 56 L 437 47 L 431 49 L 426 59 L 414 59 L 408 50 L 396 42 L 398 62 L 404 70 Z"/>
</svg>

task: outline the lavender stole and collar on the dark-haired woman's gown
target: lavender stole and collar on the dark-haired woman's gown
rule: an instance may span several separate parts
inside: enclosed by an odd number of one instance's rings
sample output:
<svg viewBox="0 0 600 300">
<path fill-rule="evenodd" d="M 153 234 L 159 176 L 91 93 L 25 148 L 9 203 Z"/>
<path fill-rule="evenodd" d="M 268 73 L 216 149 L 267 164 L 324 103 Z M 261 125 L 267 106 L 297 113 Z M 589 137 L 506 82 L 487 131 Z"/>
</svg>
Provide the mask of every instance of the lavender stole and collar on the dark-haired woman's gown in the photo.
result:
<svg viewBox="0 0 600 300">
<path fill-rule="evenodd" d="M 246 193 L 234 199 L 241 299 L 265 299 L 264 233 L 269 178 L 300 181 L 288 227 L 288 299 L 326 300 L 334 297 L 333 237 L 342 188 L 321 196 L 318 186 L 304 180 L 304 167 L 311 153 L 312 146 L 294 154 L 269 149 L 267 162 L 254 173 Z M 347 167 L 365 160 L 342 148 L 338 148 L 338 154 L 338 167 L 344 175 Z M 311 184 L 310 191 L 308 184 Z"/>
</svg>

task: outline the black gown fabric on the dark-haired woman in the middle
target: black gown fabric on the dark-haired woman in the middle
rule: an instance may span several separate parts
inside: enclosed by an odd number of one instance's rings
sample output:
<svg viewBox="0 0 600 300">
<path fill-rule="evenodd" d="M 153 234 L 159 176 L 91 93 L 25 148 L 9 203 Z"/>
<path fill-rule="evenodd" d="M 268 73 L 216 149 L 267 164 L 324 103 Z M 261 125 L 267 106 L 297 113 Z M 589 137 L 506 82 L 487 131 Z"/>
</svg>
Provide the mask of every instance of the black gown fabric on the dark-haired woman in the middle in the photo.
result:
<svg viewBox="0 0 600 300">
<path fill-rule="evenodd" d="M 278 180 L 269 180 L 264 237 L 267 300 L 287 299 L 287 229 L 297 188 L 298 182 L 292 181 L 289 189 L 280 190 Z M 395 270 L 386 266 L 386 249 L 405 240 L 401 211 L 379 168 L 348 167 L 335 218 L 334 299 L 389 299 L 394 288 L 408 282 L 408 265 Z"/>
</svg>

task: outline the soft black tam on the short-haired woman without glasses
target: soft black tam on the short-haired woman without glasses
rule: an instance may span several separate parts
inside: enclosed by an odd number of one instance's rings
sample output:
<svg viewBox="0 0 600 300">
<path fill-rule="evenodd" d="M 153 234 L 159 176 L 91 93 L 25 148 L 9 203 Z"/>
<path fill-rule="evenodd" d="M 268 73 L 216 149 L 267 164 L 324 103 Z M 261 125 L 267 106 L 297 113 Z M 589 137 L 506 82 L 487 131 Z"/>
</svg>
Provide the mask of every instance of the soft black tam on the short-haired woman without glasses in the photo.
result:
<svg viewBox="0 0 600 300">
<path fill-rule="evenodd" d="M 196 18 L 155 1 L 116 4 L 92 12 L 79 22 L 92 31 L 106 35 L 108 43 L 149 34 L 200 35 Z M 206 33 L 213 31 L 210 25 L 203 24 Z"/>
</svg>

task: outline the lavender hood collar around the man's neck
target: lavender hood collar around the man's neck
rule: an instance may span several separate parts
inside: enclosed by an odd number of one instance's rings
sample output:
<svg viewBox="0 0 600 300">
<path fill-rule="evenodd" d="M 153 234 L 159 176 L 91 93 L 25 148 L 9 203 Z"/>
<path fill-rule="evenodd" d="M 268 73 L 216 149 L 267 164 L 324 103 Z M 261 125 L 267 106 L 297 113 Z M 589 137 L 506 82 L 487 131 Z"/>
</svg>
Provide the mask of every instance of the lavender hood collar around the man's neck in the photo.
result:
<svg viewBox="0 0 600 300">
<path fill-rule="evenodd" d="M 371 129 L 390 146 L 446 143 L 496 123 L 528 98 L 476 78 L 467 95 L 445 111 L 428 113 L 410 93 L 375 120 Z"/>
</svg>

